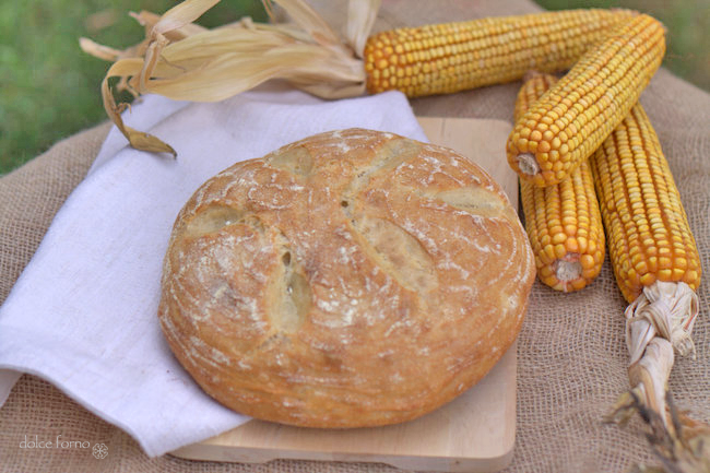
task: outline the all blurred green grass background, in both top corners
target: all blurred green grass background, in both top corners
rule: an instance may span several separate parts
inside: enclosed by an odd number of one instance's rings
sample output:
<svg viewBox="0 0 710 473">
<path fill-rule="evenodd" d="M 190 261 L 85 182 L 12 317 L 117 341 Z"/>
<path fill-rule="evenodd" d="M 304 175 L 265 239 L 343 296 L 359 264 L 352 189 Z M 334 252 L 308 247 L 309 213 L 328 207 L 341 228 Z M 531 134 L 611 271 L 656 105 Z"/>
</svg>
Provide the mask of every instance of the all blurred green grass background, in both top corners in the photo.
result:
<svg viewBox="0 0 710 473">
<path fill-rule="evenodd" d="M 493 0 L 489 0 L 493 1 Z M 141 9 L 164 12 L 176 0 L 23 0 L 0 2 L 0 175 L 56 141 L 106 119 L 99 84 L 107 62 L 83 54 L 80 36 L 114 47 L 143 37 L 129 17 Z M 708 0 L 539 0 L 556 10 L 627 7 L 668 28 L 665 66 L 710 91 Z M 265 19 L 258 0 L 225 0 L 199 23 L 215 26 L 250 15 Z M 102 23 L 110 23 L 102 27 Z"/>
</svg>

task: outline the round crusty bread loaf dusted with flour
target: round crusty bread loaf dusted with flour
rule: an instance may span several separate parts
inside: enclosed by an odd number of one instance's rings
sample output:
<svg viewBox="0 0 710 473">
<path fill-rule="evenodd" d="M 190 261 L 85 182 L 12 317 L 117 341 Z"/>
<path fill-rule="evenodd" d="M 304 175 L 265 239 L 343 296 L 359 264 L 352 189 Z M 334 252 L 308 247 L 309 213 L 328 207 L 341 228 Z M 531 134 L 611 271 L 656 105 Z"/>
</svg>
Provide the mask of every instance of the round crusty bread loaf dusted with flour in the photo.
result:
<svg viewBox="0 0 710 473">
<path fill-rule="evenodd" d="M 311 427 L 392 424 L 478 381 L 535 276 L 500 187 L 391 133 L 317 134 L 208 180 L 180 211 L 159 321 L 214 399 Z"/>
</svg>

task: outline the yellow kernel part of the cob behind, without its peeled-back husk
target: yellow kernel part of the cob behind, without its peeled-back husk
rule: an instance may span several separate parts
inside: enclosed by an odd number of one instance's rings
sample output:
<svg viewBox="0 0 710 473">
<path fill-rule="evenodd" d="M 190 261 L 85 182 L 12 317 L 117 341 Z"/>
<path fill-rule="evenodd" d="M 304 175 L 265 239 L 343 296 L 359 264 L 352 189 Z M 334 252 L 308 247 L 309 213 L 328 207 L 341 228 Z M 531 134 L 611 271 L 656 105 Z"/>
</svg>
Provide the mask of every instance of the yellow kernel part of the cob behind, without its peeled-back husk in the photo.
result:
<svg viewBox="0 0 710 473">
<path fill-rule="evenodd" d="M 378 33 L 365 46 L 367 90 L 418 97 L 516 81 L 533 69 L 563 71 L 636 14 L 568 10 Z"/>
</svg>

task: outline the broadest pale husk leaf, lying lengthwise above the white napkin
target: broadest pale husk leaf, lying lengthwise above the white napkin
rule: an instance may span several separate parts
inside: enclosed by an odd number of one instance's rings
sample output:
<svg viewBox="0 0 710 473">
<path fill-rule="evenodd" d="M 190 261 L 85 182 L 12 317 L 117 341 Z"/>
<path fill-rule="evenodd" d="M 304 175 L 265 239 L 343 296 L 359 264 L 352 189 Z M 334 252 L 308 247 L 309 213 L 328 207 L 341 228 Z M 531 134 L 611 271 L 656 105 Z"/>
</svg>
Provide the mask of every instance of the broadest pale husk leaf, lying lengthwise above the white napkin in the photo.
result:
<svg viewBox="0 0 710 473">
<path fill-rule="evenodd" d="M 133 76 L 131 86 L 179 100 L 222 100 L 276 76 L 296 83 L 363 81 L 359 61 L 343 61 L 273 28 L 208 31 L 163 47 L 159 60 L 149 49 L 145 63 L 138 66 L 126 62 L 122 70 Z"/>
</svg>

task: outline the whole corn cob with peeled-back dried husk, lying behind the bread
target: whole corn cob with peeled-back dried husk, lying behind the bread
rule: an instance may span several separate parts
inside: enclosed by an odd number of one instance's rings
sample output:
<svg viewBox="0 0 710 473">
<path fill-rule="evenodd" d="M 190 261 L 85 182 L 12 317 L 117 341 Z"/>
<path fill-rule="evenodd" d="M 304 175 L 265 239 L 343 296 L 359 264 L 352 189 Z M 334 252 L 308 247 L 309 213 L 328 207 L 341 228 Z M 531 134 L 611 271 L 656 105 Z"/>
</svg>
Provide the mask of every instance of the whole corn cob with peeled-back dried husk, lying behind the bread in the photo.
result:
<svg viewBox="0 0 710 473">
<path fill-rule="evenodd" d="M 134 95 L 193 102 L 228 98 L 270 79 L 324 98 L 362 95 L 367 87 L 371 93 L 398 88 L 413 97 L 451 93 L 518 80 L 533 68 L 568 69 L 615 26 L 638 15 L 630 10 L 545 12 L 371 36 L 379 1 L 363 0 L 350 3 L 348 16 L 357 13 L 348 17 L 343 40 L 305 0 L 277 0 L 295 25 L 245 20 L 205 29 L 192 23 L 215 3 L 186 0 L 162 16 L 134 15 L 145 26 L 145 39 L 123 50 L 81 39 L 86 52 L 114 61 L 102 83 L 104 108 L 133 147 L 176 153 L 123 123 L 127 105 L 116 103 L 109 78 Z"/>
</svg>

